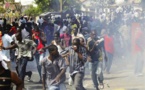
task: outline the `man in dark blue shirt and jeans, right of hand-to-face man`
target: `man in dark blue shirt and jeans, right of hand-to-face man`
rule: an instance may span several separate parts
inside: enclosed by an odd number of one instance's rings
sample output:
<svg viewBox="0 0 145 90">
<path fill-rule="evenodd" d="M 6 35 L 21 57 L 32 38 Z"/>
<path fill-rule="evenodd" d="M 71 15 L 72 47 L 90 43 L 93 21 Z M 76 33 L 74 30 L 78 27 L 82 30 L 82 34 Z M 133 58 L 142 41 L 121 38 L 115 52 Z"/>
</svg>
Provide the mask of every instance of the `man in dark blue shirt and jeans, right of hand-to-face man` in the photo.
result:
<svg viewBox="0 0 145 90">
<path fill-rule="evenodd" d="M 90 61 L 91 77 L 92 77 L 96 90 L 99 90 L 98 75 L 96 74 L 96 72 L 98 70 L 99 58 L 100 58 L 100 53 L 101 53 L 101 50 L 99 47 L 100 41 L 97 38 L 96 31 L 91 31 L 90 36 L 91 37 L 89 38 L 87 45 L 88 45 L 89 55 L 91 57 L 91 61 Z M 103 78 L 99 79 L 99 82 L 103 83 Z"/>
</svg>

